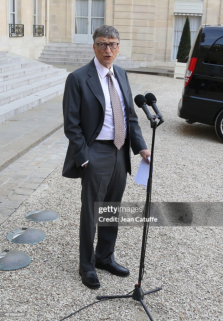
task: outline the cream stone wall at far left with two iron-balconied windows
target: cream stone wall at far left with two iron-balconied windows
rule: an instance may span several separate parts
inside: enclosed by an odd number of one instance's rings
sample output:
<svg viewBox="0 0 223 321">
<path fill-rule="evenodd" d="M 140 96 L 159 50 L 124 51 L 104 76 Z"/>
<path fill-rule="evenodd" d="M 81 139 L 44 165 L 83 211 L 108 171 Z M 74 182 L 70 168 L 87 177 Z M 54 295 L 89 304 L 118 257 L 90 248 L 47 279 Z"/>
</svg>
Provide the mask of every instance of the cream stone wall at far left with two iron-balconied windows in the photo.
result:
<svg viewBox="0 0 223 321">
<path fill-rule="evenodd" d="M 46 43 L 45 27 L 45 0 L 1 0 L 0 51 L 38 59 Z"/>
</svg>

